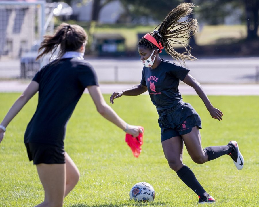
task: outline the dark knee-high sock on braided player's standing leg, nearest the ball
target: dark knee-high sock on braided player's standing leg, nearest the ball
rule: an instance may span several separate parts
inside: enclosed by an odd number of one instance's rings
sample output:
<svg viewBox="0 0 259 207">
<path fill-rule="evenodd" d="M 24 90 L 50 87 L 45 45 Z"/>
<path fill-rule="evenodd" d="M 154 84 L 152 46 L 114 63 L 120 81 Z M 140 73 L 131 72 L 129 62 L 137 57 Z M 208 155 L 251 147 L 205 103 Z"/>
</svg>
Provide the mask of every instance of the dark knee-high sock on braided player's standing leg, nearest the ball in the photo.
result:
<svg viewBox="0 0 259 207">
<path fill-rule="evenodd" d="M 191 188 L 198 196 L 207 196 L 208 193 L 201 186 L 199 181 L 196 179 L 193 171 L 190 170 L 186 165 L 184 165 L 180 170 L 176 172 L 180 179 Z"/>
</svg>

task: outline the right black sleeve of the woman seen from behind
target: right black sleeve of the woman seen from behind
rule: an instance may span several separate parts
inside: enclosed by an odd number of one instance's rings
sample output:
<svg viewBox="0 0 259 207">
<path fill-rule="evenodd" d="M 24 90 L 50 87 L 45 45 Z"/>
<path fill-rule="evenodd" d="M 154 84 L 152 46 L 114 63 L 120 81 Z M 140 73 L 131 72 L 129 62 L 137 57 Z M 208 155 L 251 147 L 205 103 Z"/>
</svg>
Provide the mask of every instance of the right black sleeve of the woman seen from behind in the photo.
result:
<svg viewBox="0 0 259 207">
<path fill-rule="evenodd" d="M 80 84 L 86 88 L 87 86 L 99 85 L 96 72 L 92 65 L 84 64 L 77 68 L 77 75 Z"/>
</svg>

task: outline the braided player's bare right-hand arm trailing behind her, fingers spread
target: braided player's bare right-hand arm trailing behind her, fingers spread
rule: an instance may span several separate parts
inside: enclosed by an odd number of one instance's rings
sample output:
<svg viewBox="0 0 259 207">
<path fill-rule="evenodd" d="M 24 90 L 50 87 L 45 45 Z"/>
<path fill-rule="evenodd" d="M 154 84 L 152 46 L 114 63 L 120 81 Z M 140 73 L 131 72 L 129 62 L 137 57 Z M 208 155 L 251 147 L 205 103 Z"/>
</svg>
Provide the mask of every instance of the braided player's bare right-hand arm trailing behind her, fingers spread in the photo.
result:
<svg viewBox="0 0 259 207">
<path fill-rule="evenodd" d="M 209 98 L 207 97 L 206 93 L 203 91 L 203 88 L 201 87 L 201 84 L 195 80 L 190 74 L 187 74 L 186 77 L 183 80 L 184 83 L 188 84 L 189 86 L 193 87 L 193 89 L 196 91 L 196 93 L 199 95 L 201 100 L 204 102 L 205 106 L 207 107 L 207 110 L 210 112 L 210 115 L 214 119 L 218 119 L 219 121 L 222 120 L 223 113 L 212 106 L 210 103 Z"/>
</svg>

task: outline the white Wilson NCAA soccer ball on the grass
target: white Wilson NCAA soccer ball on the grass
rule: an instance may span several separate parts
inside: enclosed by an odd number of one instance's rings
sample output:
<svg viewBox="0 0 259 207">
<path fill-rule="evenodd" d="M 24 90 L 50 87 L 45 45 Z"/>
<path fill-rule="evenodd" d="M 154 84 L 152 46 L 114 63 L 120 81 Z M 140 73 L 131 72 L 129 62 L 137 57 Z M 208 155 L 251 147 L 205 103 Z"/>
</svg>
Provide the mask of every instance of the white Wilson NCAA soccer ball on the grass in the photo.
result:
<svg viewBox="0 0 259 207">
<path fill-rule="evenodd" d="M 155 199 L 155 190 L 149 183 L 140 182 L 133 185 L 129 198 L 138 202 L 151 202 Z"/>
</svg>

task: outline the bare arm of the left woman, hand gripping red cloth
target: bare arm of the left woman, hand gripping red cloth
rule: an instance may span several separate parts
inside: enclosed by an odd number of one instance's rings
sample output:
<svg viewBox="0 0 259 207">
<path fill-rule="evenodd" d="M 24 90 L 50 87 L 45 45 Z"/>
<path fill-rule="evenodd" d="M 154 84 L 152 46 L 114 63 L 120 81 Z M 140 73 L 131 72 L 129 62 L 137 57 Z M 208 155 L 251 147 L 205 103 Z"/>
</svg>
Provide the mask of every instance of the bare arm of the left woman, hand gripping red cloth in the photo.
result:
<svg viewBox="0 0 259 207">
<path fill-rule="evenodd" d="M 87 89 L 94 101 L 97 111 L 104 118 L 123 129 L 123 131 L 133 135 L 133 137 L 137 137 L 139 133 L 143 133 L 140 127 L 128 125 L 116 114 L 116 112 L 105 102 L 99 86 L 89 86 Z"/>
</svg>

